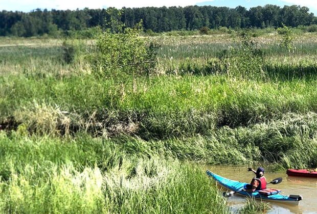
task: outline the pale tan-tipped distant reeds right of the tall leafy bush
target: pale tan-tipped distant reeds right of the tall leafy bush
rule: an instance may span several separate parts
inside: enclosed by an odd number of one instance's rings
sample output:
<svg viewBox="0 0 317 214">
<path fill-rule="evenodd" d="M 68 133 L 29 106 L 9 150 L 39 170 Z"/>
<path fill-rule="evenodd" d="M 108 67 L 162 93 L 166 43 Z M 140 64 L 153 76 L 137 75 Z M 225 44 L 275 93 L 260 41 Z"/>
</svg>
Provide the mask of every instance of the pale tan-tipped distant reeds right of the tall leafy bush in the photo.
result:
<svg viewBox="0 0 317 214">
<path fill-rule="evenodd" d="M 294 42 L 294 50 L 289 52 L 281 48 L 281 37 L 278 35 L 264 35 L 252 40 L 266 57 L 283 56 L 312 56 L 317 53 L 315 34 L 299 35 Z M 223 50 L 239 47 L 240 41 L 236 35 L 215 35 L 196 37 L 162 37 L 152 39 L 162 44 L 159 57 L 163 59 L 210 59 L 218 58 Z"/>
</svg>

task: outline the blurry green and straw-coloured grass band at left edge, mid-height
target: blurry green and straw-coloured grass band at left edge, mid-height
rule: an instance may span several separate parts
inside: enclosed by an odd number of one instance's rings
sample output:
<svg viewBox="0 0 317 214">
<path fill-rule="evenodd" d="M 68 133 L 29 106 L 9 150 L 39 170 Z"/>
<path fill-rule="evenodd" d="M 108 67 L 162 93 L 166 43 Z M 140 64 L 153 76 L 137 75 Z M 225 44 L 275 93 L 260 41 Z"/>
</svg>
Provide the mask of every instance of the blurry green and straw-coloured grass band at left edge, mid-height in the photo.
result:
<svg viewBox="0 0 317 214">
<path fill-rule="evenodd" d="M 1 124 L 25 123 L 38 133 L 100 129 L 103 90 L 93 74 L 4 75 L 0 83 Z"/>
</svg>

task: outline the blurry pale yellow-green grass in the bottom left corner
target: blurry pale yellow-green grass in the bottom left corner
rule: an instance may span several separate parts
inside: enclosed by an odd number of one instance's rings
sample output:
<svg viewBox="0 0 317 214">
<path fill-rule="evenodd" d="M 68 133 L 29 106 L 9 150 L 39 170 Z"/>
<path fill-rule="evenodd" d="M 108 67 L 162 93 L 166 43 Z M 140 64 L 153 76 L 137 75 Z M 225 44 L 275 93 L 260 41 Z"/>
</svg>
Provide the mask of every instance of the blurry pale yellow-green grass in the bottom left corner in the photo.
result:
<svg viewBox="0 0 317 214">
<path fill-rule="evenodd" d="M 0 206 L 2 212 L 47 213 L 89 212 L 101 213 L 104 208 L 102 176 L 99 169 L 85 168 L 83 172 L 71 166 L 52 167 L 48 179 L 34 181 L 28 166 L 13 173 L 9 183 L 1 182 Z"/>
</svg>

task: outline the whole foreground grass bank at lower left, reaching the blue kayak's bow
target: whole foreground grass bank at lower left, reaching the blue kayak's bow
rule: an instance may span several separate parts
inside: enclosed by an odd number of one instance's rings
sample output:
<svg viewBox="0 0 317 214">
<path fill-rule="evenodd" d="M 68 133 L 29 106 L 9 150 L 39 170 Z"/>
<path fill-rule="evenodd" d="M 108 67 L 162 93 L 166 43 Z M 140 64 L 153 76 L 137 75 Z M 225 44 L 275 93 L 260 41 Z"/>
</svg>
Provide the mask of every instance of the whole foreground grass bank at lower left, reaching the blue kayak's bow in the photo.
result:
<svg viewBox="0 0 317 214">
<path fill-rule="evenodd" d="M 101 139 L 0 132 L 1 212 L 223 213 L 225 201 L 198 166 L 131 154 Z"/>
</svg>

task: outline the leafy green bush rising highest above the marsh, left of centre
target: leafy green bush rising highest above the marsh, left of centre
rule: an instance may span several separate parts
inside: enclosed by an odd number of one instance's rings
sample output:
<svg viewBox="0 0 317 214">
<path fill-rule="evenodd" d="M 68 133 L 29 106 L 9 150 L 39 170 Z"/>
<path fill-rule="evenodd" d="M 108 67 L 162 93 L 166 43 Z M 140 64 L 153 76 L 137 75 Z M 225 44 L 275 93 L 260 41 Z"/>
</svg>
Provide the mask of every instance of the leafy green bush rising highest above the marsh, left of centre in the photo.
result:
<svg viewBox="0 0 317 214">
<path fill-rule="evenodd" d="M 156 65 L 157 45 L 139 35 L 142 20 L 134 28 L 110 18 L 111 29 L 106 29 L 98 45 L 102 55 L 105 77 L 149 75 Z"/>
</svg>

